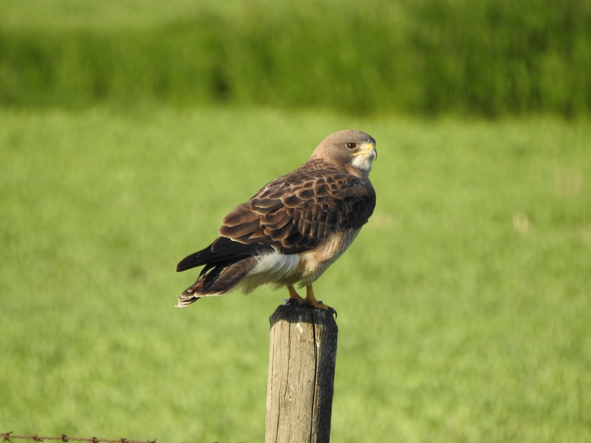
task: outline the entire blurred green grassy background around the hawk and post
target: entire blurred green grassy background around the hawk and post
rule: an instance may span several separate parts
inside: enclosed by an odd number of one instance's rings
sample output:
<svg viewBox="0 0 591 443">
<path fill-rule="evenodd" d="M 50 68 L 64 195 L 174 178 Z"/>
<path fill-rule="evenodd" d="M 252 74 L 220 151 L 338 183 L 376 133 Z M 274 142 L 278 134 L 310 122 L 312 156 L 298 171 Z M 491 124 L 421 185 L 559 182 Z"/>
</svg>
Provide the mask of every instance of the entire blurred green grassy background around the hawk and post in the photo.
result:
<svg viewBox="0 0 591 443">
<path fill-rule="evenodd" d="M 590 18 L 0 2 L 0 432 L 262 441 L 285 294 L 177 310 L 197 272 L 174 268 L 357 128 L 378 206 L 316 286 L 339 311 L 333 441 L 591 441 Z"/>
</svg>

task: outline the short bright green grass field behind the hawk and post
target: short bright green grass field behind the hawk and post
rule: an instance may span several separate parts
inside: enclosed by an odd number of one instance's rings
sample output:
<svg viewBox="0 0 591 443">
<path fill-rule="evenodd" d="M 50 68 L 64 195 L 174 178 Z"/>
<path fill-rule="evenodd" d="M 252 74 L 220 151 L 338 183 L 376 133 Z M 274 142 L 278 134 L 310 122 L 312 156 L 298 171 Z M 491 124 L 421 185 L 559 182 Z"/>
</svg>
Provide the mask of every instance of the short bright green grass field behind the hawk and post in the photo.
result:
<svg viewBox="0 0 591 443">
<path fill-rule="evenodd" d="M 335 442 L 591 439 L 587 121 L 0 109 L 0 432 L 262 441 L 261 288 L 173 307 L 177 261 L 330 132 L 378 205 L 317 283 Z"/>
</svg>

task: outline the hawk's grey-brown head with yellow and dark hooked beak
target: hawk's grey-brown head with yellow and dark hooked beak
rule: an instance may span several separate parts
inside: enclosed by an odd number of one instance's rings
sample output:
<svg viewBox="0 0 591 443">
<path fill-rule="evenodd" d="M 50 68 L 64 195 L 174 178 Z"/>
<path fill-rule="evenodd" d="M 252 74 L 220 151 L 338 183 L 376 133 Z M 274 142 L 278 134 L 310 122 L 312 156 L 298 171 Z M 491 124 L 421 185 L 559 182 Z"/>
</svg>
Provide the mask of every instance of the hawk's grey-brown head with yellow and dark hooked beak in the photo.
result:
<svg viewBox="0 0 591 443">
<path fill-rule="evenodd" d="M 339 131 L 327 136 L 314 149 L 313 158 L 352 165 L 359 170 L 369 172 L 374 159 L 378 157 L 375 140 L 371 135 L 361 131 Z"/>
</svg>

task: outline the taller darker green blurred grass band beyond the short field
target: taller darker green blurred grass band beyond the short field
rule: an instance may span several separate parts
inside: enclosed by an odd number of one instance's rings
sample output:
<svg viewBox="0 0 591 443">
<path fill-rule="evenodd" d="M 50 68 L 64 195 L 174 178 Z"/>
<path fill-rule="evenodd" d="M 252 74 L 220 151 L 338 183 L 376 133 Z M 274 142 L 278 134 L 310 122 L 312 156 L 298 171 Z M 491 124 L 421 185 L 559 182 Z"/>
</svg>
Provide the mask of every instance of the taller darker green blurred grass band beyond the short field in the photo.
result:
<svg viewBox="0 0 591 443">
<path fill-rule="evenodd" d="M 158 100 L 486 116 L 591 110 L 588 0 L 177 0 L 164 18 L 149 2 L 135 19 L 116 2 L 100 14 L 79 5 L 74 14 L 67 0 L 54 0 L 63 6 L 57 18 L 27 24 L 35 15 L 25 14 L 28 3 L 0 5 L 5 105 Z M 127 21 L 109 19 L 109 8 Z"/>
</svg>

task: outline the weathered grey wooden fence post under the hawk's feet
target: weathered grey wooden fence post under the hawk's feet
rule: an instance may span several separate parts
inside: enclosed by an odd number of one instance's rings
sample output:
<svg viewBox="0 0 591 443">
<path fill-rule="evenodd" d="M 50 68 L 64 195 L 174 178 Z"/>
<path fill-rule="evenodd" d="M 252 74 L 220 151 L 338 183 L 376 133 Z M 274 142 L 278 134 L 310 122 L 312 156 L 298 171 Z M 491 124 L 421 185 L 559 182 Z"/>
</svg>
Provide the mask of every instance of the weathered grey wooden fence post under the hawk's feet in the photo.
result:
<svg viewBox="0 0 591 443">
<path fill-rule="evenodd" d="M 337 326 L 328 311 L 281 305 L 269 319 L 266 443 L 330 440 Z"/>
</svg>

